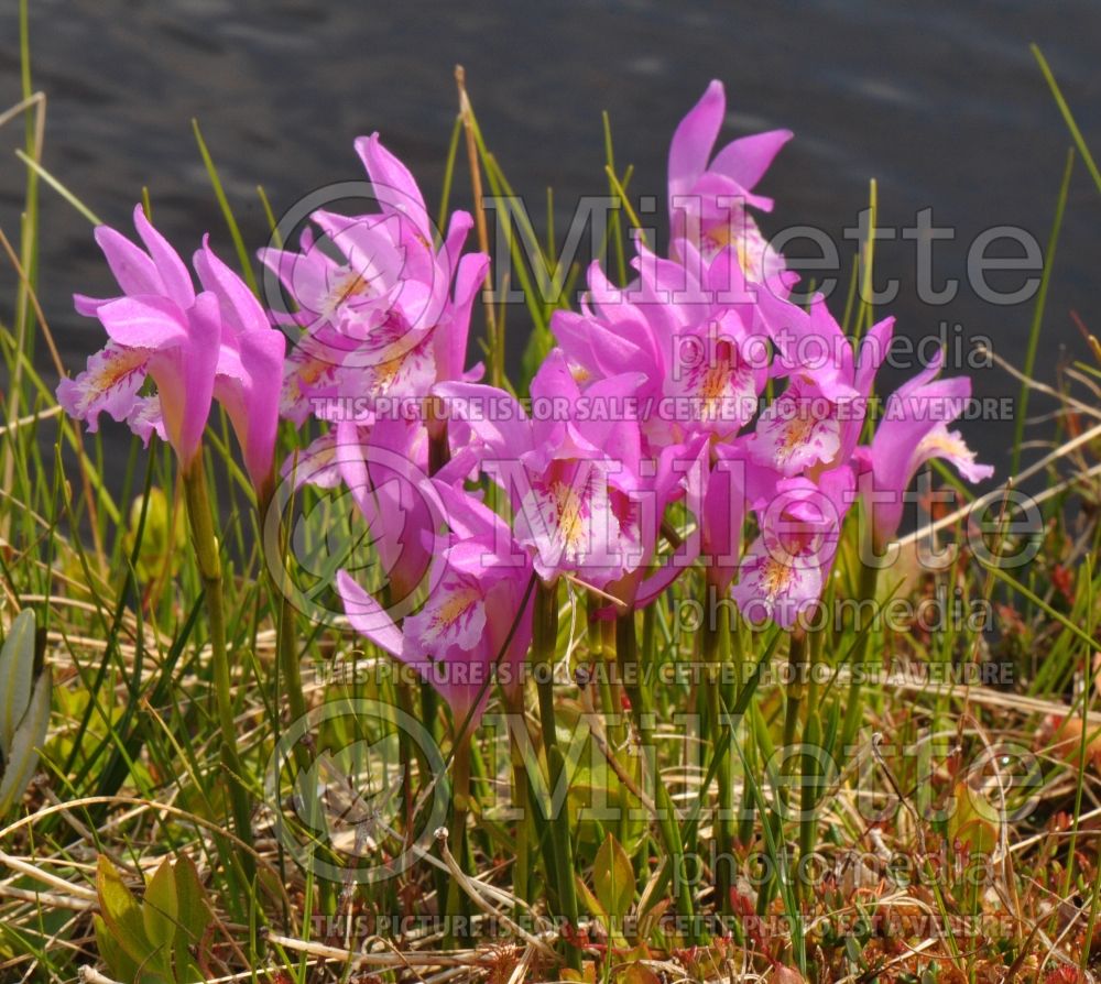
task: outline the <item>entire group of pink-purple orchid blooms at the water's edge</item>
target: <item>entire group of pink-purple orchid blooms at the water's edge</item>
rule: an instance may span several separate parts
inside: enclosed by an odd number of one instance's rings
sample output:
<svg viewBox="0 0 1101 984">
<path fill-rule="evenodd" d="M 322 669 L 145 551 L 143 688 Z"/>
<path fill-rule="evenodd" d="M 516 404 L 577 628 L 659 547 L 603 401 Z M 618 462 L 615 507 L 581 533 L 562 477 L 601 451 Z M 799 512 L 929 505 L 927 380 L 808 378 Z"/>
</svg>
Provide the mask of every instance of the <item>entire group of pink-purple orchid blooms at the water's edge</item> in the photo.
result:
<svg viewBox="0 0 1101 984">
<path fill-rule="evenodd" d="M 382 570 L 370 590 L 341 571 L 348 619 L 457 713 L 477 710 L 500 654 L 525 658 L 533 577 L 593 589 L 611 613 L 648 604 L 695 568 L 749 621 L 791 628 L 821 598 L 854 503 L 882 546 L 923 462 L 942 458 L 970 481 L 992 470 L 949 430 L 970 383 L 938 379 L 939 360 L 891 396 L 866 441 L 893 319 L 854 343 L 825 299 L 789 299 L 797 277 L 757 226 L 773 203 L 755 188 L 792 134 L 716 153 L 724 113 L 711 83 L 669 149 L 668 249 L 637 238 L 623 285 L 590 266 L 579 309 L 552 320 L 557 347 L 530 401 L 467 367 L 489 269 L 464 251 L 471 217 L 455 212 L 437 234 L 413 176 L 375 134 L 356 149 L 378 210 L 317 211 L 297 250 L 261 251 L 288 313 L 265 314 L 206 245 L 196 294 L 141 209 L 146 251 L 97 230 L 123 293 L 77 299 L 110 341 L 62 383 L 61 402 L 92 427 L 107 411 L 146 438 L 156 430 L 186 468 L 217 398 L 258 488 L 277 416 L 320 422 L 323 436 L 286 468 L 297 483 L 348 486 Z M 142 390 L 146 375 L 154 392 Z M 668 534 L 675 505 L 693 517 L 685 538 Z M 464 671 L 440 682 L 440 665 Z"/>
</svg>

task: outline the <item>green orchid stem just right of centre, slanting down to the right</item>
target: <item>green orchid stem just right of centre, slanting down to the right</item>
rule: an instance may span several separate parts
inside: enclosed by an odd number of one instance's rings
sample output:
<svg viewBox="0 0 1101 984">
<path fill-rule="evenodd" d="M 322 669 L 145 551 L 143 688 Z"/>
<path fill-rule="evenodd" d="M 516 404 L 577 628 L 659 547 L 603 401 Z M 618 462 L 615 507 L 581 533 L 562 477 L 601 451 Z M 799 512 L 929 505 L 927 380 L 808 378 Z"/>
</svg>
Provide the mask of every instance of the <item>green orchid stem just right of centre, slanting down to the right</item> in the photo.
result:
<svg viewBox="0 0 1101 984">
<path fill-rule="evenodd" d="M 620 615 L 615 620 L 615 653 L 619 657 L 620 673 L 631 698 L 631 713 L 634 715 L 635 728 L 642 742 L 644 754 L 654 753 L 655 714 L 654 702 L 646 680 L 641 679 L 639 664 L 639 641 L 635 634 L 634 612 Z M 652 758 L 656 762 L 656 755 Z M 680 824 L 677 822 L 676 806 L 669 796 L 668 787 L 659 777 L 654 777 L 654 799 L 657 807 L 657 826 L 673 862 L 674 885 L 676 886 L 677 914 L 688 927 L 691 944 L 700 942 L 700 928 L 696 923 L 693 907 L 688 865 L 685 860 L 684 840 L 680 835 Z"/>
</svg>

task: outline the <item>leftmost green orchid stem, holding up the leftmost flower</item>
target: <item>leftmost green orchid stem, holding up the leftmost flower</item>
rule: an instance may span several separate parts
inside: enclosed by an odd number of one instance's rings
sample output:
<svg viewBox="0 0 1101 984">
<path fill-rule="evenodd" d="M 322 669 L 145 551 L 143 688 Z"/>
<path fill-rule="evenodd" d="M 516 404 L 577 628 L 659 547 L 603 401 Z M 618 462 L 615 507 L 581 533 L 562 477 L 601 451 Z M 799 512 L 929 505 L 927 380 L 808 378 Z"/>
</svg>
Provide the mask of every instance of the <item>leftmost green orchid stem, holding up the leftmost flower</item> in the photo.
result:
<svg viewBox="0 0 1101 984">
<path fill-rule="evenodd" d="M 207 494 L 206 475 L 201 452 L 195 456 L 192 466 L 184 473 L 184 494 L 187 500 L 187 516 L 192 526 L 192 540 L 203 578 L 203 591 L 207 608 L 210 632 L 210 653 L 214 668 L 215 701 L 218 711 L 218 726 L 221 731 L 221 759 L 226 767 L 229 798 L 233 811 L 237 835 L 252 844 L 252 817 L 249 795 L 242 776 L 244 770 L 237 751 L 237 726 L 233 722 L 232 679 L 229 656 L 226 650 L 226 615 L 221 593 L 221 557 L 215 535 L 214 515 Z M 251 882 L 255 874 L 255 863 L 251 853 L 242 852 L 241 864 Z"/>
</svg>

